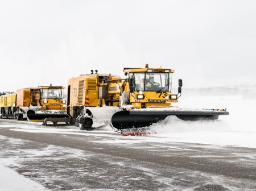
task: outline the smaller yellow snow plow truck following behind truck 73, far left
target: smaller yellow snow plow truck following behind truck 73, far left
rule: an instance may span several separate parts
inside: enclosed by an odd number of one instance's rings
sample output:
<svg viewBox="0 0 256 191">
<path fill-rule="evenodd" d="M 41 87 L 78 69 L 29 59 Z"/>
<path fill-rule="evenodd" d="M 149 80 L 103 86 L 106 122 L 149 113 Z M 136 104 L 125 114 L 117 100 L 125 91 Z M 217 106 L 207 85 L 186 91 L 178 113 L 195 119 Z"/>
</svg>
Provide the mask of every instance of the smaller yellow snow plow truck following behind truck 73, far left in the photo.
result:
<svg viewBox="0 0 256 191">
<path fill-rule="evenodd" d="M 68 118 L 63 86 L 23 88 L 0 97 L 1 117 L 40 122 L 45 118 Z"/>
</svg>

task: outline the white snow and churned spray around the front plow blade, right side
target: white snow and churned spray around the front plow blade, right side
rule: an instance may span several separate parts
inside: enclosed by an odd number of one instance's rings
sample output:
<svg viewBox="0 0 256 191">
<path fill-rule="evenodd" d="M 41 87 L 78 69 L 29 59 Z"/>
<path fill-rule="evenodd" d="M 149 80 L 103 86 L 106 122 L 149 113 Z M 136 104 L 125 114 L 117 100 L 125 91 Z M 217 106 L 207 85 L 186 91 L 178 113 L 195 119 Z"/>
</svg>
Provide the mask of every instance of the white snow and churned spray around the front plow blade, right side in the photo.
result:
<svg viewBox="0 0 256 191">
<path fill-rule="evenodd" d="M 229 111 L 215 121 L 186 122 L 176 117 L 156 123 L 152 136 L 168 138 L 174 142 L 218 144 L 256 148 L 256 99 L 242 96 L 180 98 L 180 106 L 218 108 Z"/>
</svg>

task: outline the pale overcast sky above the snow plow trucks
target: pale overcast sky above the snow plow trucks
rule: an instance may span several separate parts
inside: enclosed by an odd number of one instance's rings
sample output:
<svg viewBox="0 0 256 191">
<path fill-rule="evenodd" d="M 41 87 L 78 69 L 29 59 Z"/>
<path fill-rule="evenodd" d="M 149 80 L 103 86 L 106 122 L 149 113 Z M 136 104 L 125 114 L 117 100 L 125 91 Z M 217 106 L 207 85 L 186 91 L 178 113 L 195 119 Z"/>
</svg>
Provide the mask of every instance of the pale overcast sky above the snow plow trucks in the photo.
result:
<svg viewBox="0 0 256 191">
<path fill-rule="evenodd" d="M 256 1 L 0 0 L 0 91 L 145 63 L 187 88 L 256 84 Z"/>
</svg>

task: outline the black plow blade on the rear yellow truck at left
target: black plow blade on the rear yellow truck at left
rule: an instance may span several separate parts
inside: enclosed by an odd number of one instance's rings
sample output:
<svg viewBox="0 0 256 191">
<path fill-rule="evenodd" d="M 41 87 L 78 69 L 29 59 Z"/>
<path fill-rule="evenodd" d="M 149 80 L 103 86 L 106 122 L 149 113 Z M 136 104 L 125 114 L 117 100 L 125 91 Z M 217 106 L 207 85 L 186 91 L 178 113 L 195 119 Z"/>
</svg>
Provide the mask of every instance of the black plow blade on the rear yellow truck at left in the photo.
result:
<svg viewBox="0 0 256 191">
<path fill-rule="evenodd" d="M 70 118 L 63 110 L 28 110 L 27 119 L 30 122 L 43 122 L 46 118 Z"/>
</svg>

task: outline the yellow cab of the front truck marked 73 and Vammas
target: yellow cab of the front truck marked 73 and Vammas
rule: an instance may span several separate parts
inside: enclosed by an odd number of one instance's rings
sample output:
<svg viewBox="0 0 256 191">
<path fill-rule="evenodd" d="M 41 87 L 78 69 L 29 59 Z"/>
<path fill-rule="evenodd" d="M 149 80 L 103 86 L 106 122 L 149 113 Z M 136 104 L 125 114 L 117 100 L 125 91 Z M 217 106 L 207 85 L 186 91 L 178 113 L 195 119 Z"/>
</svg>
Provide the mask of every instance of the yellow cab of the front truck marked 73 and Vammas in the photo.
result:
<svg viewBox="0 0 256 191">
<path fill-rule="evenodd" d="M 128 75 L 126 91 L 130 105 L 143 109 L 150 107 L 170 107 L 177 102 L 178 95 L 171 94 L 174 69 L 164 68 L 125 68 Z"/>
</svg>

